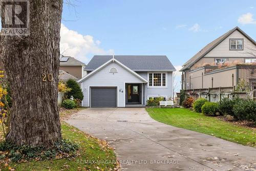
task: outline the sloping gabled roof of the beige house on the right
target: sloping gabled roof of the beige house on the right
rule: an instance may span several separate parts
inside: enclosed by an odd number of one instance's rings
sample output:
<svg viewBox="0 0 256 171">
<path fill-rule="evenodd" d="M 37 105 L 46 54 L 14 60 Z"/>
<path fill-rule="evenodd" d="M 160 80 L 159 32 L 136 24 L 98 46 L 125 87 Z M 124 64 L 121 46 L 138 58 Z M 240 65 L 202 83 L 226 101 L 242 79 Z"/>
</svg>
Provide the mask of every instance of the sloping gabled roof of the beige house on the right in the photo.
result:
<svg viewBox="0 0 256 171">
<path fill-rule="evenodd" d="M 234 31 L 238 30 L 241 34 L 243 34 L 246 38 L 248 38 L 254 45 L 256 45 L 256 42 L 248 36 L 244 31 L 242 31 L 239 27 L 235 27 L 232 30 L 229 30 L 222 36 L 218 37 L 214 41 L 211 41 L 208 45 L 206 45 L 201 51 L 199 51 L 196 55 L 191 57 L 186 63 L 184 63 L 183 68 L 180 71 L 184 71 L 191 66 L 194 65 L 199 59 L 204 57 L 207 53 L 209 53 L 212 49 L 214 49 L 216 46 L 218 46 L 224 39 L 226 39 L 230 34 L 232 34 Z"/>
</svg>

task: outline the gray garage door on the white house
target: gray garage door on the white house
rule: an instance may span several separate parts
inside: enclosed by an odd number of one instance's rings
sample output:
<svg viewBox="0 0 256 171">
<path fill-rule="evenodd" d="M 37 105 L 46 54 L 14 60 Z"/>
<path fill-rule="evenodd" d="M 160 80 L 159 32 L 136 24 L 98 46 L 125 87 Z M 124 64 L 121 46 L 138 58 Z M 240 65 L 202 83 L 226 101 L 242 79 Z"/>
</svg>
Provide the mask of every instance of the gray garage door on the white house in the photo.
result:
<svg viewBox="0 0 256 171">
<path fill-rule="evenodd" d="M 116 88 L 91 88 L 91 107 L 116 107 Z"/>
</svg>

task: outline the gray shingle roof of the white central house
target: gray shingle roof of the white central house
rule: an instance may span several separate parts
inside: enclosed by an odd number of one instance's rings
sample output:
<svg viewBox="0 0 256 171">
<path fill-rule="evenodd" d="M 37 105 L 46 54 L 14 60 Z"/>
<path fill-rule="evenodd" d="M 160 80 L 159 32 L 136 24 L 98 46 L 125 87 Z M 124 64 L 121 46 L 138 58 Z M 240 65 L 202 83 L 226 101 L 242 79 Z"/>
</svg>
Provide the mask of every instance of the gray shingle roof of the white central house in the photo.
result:
<svg viewBox="0 0 256 171">
<path fill-rule="evenodd" d="M 164 55 L 115 55 L 115 59 L 123 63 L 131 70 L 175 70 L 167 56 Z M 86 67 L 86 71 L 92 71 L 112 59 L 112 55 L 95 55 Z"/>
</svg>

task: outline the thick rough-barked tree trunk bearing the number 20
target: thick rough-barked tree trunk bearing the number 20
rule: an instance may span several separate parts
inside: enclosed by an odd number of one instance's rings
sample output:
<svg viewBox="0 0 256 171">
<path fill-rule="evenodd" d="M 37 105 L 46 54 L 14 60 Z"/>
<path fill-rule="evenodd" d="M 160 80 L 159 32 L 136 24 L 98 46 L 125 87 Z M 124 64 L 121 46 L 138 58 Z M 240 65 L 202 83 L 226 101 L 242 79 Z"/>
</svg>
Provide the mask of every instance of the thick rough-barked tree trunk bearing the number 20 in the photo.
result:
<svg viewBox="0 0 256 171">
<path fill-rule="evenodd" d="M 0 36 L 0 56 L 12 90 L 7 140 L 17 145 L 49 146 L 61 139 L 57 85 L 63 2 L 29 2 L 30 35 Z"/>
</svg>

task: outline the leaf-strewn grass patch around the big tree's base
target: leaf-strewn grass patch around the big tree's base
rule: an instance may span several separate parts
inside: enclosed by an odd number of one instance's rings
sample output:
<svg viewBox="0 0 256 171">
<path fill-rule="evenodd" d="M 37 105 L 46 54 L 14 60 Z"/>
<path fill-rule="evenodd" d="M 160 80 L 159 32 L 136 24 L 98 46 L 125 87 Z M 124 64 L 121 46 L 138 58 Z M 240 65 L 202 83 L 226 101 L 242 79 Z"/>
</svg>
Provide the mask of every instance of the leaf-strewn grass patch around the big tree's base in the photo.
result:
<svg viewBox="0 0 256 171">
<path fill-rule="evenodd" d="M 72 112 L 64 111 L 66 113 Z M 74 111 L 73 112 L 77 112 Z M 60 112 L 60 115 L 65 115 Z M 0 163 L 0 170 L 114 170 L 118 166 L 112 148 L 105 141 L 84 134 L 68 123 L 61 122 L 62 137 L 80 144 L 79 156 L 46 161 L 30 161 L 26 163 Z M 94 162 L 94 163 L 93 163 Z M 98 163 L 97 163 L 98 162 Z M 110 169 L 111 168 L 111 169 Z"/>
</svg>

